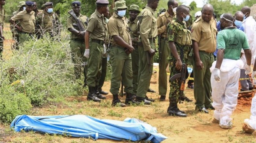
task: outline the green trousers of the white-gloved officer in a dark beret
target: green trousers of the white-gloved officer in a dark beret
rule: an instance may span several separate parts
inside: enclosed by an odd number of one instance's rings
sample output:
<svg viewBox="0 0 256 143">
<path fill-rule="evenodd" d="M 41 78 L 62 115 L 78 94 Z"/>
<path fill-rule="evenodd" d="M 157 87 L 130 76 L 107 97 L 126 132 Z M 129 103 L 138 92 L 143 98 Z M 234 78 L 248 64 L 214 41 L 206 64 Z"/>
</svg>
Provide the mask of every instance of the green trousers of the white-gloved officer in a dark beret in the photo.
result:
<svg viewBox="0 0 256 143">
<path fill-rule="evenodd" d="M 99 85 L 101 65 L 103 56 L 103 43 L 99 44 L 90 41 L 90 54 L 88 59 L 87 79 L 88 87 Z"/>
</svg>

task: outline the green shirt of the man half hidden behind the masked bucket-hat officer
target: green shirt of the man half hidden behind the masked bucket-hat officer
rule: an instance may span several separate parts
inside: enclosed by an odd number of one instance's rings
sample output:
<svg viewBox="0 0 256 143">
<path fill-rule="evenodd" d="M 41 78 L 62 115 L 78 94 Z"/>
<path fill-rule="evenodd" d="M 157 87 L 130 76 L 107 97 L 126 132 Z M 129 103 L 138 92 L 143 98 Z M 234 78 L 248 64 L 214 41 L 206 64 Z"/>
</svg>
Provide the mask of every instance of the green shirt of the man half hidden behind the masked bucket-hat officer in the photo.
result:
<svg viewBox="0 0 256 143">
<path fill-rule="evenodd" d="M 138 36 L 139 36 L 139 34 L 138 34 L 137 22 L 138 22 L 137 18 L 135 20 L 133 20 L 133 22 L 131 22 L 130 19 L 127 20 L 127 24 L 131 29 L 130 35 L 131 35 L 131 41 L 132 41 L 133 46 L 138 45 Z"/>
</svg>

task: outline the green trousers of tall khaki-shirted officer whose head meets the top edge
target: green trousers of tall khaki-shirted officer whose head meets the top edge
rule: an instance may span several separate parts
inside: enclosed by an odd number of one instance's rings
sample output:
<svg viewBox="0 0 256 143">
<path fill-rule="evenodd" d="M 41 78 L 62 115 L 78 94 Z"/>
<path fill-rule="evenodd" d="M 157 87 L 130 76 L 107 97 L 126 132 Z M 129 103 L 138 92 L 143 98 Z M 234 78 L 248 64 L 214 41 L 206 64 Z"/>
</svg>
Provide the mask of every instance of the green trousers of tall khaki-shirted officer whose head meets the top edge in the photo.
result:
<svg viewBox="0 0 256 143">
<path fill-rule="evenodd" d="M 150 41 L 150 46 L 152 49 L 156 49 L 155 41 Z M 138 70 L 138 97 L 144 97 L 147 94 L 147 89 L 149 88 L 150 79 L 153 71 L 153 61 L 154 56 L 151 57 L 151 65 L 147 64 L 148 51 L 144 51 L 143 46 L 139 46 L 139 70 Z"/>
</svg>

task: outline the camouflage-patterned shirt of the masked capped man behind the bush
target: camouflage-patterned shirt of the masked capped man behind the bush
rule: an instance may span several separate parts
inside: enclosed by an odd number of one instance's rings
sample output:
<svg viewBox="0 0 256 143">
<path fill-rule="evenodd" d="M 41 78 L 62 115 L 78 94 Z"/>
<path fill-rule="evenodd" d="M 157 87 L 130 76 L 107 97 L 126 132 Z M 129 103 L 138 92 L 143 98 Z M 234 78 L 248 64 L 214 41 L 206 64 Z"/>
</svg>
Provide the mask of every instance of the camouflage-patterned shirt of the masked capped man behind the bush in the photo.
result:
<svg viewBox="0 0 256 143">
<path fill-rule="evenodd" d="M 46 32 L 54 31 L 54 27 L 58 27 L 58 15 L 55 12 L 48 13 L 47 11 L 39 12 L 36 16 L 36 24 L 40 25 Z"/>
</svg>

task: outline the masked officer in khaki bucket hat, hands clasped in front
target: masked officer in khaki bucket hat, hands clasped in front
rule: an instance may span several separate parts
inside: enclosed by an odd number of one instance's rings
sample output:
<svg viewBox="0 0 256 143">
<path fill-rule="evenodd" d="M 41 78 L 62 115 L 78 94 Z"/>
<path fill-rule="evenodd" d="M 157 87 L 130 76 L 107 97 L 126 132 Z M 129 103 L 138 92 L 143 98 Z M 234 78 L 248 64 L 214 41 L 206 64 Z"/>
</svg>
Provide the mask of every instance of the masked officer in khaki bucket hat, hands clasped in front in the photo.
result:
<svg viewBox="0 0 256 143">
<path fill-rule="evenodd" d="M 112 36 L 110 40 L 112 46 L 109 53 L 112 66 L 110 87 L 110 92 L 113 94 L 112 106 L 120 105 L 121 107 L 125 107 L 125 104 L 135 103 L 131 94 L 133 78 L 130 54 L 134 48 L 131 42 L 130 30 L 124 17 L 127 8 L 124 0 L 115 2 L 115 7 L 113 8 L 115 12 L 107 23 L 109 34 Z M 126 92 L 125 104 L 118 99 L 121 80 Z"/>
</svg>

